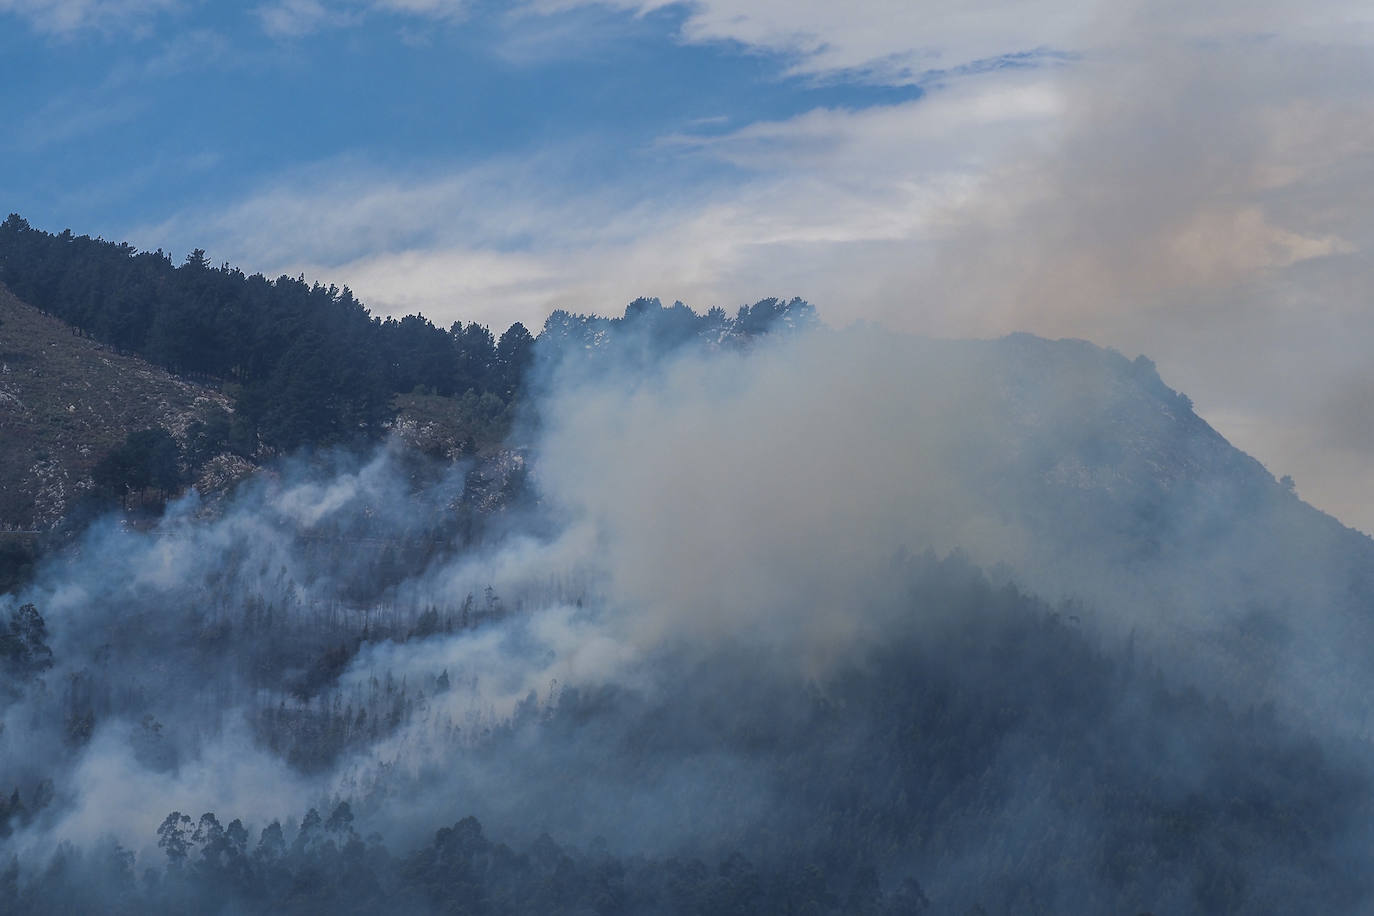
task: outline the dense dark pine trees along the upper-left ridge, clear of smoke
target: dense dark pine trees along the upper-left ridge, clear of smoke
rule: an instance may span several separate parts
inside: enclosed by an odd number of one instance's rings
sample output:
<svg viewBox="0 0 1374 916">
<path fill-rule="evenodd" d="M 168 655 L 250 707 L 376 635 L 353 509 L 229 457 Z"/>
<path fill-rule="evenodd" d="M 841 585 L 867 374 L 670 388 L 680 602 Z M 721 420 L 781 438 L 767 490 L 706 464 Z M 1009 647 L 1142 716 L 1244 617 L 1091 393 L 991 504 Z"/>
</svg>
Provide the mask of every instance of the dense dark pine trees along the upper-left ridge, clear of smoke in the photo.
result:
<svg viewBox="0 0 1374 916">
<path fill-rule="evenodd" d="M 236 386 L 229 434 L 207 434 L 243 455 L 375 439 L 393 396 L 420 385 L 504 405 L 530 364 L 532 338 L 519 325 L 502 349 L 475 324 L 442 331 L 420 316 L 371 317 L 346 287 L 246 276 L 212 266 L 201 249 L 174 266 L 161 250 L 51 235 L 16 214 L 0 224 L 0 282 L 120 350 Z M 126 468 L 106 471 L 118 490 Z"/>
</svg>

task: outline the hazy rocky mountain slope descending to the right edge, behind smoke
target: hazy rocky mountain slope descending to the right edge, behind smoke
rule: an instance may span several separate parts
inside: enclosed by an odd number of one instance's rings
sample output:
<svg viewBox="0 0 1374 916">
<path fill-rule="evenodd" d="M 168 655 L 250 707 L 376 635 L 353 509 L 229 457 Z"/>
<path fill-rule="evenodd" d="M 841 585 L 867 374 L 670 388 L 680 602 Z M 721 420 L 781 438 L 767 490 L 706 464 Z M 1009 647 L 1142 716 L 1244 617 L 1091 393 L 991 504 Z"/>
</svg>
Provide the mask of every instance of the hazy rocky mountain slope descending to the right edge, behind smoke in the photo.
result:
<svg viewBox="0 0 1374 916">
<path fill-rule="evenodd" d="M 960 464 L 969 492 L 1028 533 L 998 558 L 1018 582 L 1153 634 L 1180 676 L 1208 665 L 1212 689 L 1363 731 L 1360 689 L 1330 670 L 1374 674 L 1374 540 L 1275 481 L 1145 357 L 1029 335 L 966 346 L 985 350 L 960 358 L 992 380 L 967 407 L 993 445 L 951 448 L 981 455 Z"/>
</svg>

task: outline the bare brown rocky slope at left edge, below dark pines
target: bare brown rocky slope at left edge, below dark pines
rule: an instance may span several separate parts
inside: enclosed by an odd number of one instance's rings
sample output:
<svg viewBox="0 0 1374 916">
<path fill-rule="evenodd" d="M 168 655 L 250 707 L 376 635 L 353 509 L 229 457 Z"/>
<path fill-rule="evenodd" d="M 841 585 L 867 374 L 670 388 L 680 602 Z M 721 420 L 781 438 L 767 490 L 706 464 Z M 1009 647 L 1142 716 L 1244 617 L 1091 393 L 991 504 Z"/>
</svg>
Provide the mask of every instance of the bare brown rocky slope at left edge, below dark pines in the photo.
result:
<svg viewBox="0 0 1374 916">
<path fill-rule="evenodd" d="M 231 409 L 217 390 L 117 353 L 0 287 L 0 527 L 58 523 L 129 433 L 164 427 L 184 444 L 194 420 Z"/>
</svg>

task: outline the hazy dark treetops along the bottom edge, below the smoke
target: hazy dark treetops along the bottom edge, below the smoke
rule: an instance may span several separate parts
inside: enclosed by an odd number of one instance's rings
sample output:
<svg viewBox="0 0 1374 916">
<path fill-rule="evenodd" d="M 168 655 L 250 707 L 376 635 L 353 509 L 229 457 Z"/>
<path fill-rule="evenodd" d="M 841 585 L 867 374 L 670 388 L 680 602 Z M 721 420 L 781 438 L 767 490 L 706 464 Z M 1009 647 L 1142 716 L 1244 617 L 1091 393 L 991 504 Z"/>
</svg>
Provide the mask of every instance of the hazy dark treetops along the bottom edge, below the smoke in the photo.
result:
<svg viewBox="0 0 1374 916">
<path fill-rule="evenodd" d="M 710 864 L 697 857 L 618 857 L 547 834 L 510 846 L 475 817 L 436 831 L 396 856 L 376 834 L 360 835 L 341 802 L 300 825 L 272 821 L 253 834 L 238 818 L 172 812 L 157 831 L 165 865 L 136 873 L 114 842 L 63 846 L 48 868 L 0 869 L 0 894 L 15 913 L 797 913 L 915 916 L 929 900 L 914 879 L 883 889 L 877 872 L 827 873 L 797 862 L 760 865 L 741 851 Z M 973 911 L 978 912 L 978 911 Z"/>
</svg>

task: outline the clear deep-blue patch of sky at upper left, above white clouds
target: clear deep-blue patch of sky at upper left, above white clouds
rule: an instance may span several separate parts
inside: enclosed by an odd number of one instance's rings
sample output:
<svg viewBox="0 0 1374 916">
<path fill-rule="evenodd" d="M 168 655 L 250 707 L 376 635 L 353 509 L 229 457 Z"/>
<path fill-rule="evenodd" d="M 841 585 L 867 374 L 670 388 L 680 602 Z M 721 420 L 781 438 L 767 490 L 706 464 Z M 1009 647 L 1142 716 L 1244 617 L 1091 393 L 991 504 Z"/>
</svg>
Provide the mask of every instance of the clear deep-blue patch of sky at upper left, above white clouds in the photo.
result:
<svg viewBox="0 0 1374 916">
<path fill-rule="evenodd" d="M 782 51 L 684 43 L 672 7 L 383 10 L 301 34 L 265 14 L 185 4 L 67 29 L 0 18 L 0 78 L 22 87 L 0 98 L 7 205 L 113 238 L 302 168 L 436 174 L 548 150 L 566 152 L 569 183 L 720 181 L 727 165 L 655 141 L 921 92 L 787 76 Z"/>
</svg>

